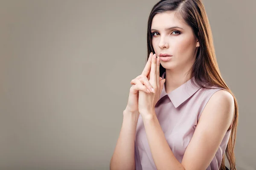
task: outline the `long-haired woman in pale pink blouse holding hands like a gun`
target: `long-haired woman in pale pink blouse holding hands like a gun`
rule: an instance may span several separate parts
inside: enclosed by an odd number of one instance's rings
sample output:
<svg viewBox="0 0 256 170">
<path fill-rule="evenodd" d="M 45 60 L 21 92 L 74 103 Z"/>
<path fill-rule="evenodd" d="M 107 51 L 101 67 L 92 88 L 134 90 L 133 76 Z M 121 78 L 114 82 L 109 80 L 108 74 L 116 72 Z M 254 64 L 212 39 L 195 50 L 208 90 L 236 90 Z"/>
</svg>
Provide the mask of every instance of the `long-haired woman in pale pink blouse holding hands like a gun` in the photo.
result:
<svg viewBox="0 0 256 170">
<path fill-rule="evenodd" d="M 225 150 L 236 170 L 238 104 L 221 77 L 201 0 L 160 0 L 147 40 L 110 169 L 225 170 Z"/>
</svg>

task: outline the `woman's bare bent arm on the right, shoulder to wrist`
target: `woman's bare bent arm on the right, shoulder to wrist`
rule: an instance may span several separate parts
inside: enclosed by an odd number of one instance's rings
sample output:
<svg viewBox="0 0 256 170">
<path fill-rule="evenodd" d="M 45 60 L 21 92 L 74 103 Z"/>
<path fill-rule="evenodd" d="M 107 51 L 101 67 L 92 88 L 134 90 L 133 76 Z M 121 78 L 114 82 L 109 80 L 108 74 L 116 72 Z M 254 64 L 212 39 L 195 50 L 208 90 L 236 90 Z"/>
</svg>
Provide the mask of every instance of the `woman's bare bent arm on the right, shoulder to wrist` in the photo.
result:
<svg viewBox="0 0 256 170">
<path fill-rule="evenodd" d="M 145 132 L 158 170 L 205 170 L 216 154 L 234 113 L 233 96 L 215 92 L 205 106 L 181 163 L 166 141 L 156 114 L 143 118 Z M 221 163 L 221 162 L 219 162 Z"/>
</svg>

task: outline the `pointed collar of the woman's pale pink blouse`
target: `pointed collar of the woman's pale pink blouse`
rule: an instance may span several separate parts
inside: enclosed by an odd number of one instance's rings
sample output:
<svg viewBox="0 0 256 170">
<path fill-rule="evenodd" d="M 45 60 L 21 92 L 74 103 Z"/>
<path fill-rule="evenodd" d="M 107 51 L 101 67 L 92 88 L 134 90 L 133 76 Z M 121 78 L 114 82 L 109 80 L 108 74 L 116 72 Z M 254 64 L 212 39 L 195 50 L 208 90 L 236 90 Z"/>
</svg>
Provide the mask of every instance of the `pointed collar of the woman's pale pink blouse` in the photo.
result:
<svg viewBox="0 0 256 170">
<path fill-rule="evenodd" d="M 162 79 L 165 78 L 165 75 L 166 75 L 166 72 L 163 73 Z M 192 79 L 195 79 L 195 77 L 192 77 Z M 171 91 L 169 94 L 166 93 L 165 84 L 163 84 L 163 90 L 160 94 L 160 99 L 163 96 L 168 95 L 174 107 L 177 108 L 179 105 L 181 105 L 183 102 L 189 99 L 190 96 L 195 94 L 195 92 L 201 88 L 198 85 L 194 85 L 192 83 L 192 79 L 189 79 L 187 82 L 180 85 L 178 88 Z"/>
</svg>

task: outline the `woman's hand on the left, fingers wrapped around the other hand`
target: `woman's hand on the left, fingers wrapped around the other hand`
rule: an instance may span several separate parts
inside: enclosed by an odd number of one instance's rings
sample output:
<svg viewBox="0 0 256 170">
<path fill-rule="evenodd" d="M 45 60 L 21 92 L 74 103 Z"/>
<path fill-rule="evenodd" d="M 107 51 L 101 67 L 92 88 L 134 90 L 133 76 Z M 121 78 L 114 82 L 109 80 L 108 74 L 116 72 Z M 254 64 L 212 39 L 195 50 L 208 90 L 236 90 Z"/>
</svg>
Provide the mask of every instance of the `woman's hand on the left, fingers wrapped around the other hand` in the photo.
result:
<svg viewBox="0 0 256 170">
<path fill-rule="evenodd" d="M 131 88 L 130 93 L 128 97 L 128 104 L 125 108 L 126 111 L 131 113 L 138 113 L 139 114 L 139 108 L 138 108 L 138 97 L 139 97 L 139 91 L 144 91 L 145 93 L 153 92 L 151 88 L 153 86 L 150 84 L 148 79 L 150 78 L 150 69 L 151 69 L 151 61 L 152 61 L 153 53 L 150 53 L 148 57 L 148 61 L 145 65 L 145 68 L 143 69 L 142 74 L 140 74 L 135 79 L 131 80 Z"/>
</svg>

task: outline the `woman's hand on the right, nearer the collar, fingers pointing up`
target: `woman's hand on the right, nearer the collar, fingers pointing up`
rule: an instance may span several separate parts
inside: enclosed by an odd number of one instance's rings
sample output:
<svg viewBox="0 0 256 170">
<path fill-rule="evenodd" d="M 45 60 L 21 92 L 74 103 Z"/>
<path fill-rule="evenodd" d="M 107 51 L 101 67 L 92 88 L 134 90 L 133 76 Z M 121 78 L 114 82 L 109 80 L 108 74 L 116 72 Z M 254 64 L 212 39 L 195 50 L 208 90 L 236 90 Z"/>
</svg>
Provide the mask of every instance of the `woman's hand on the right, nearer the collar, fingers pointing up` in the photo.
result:
<svg viewBox="0 0 256 170">
<path fill-rule="evenodd" d="M 165 79 L 160 79 L 160 58 L 156 54 L 152 57 L 149 83 L 153 86 L 155 93 L 139 91 L 138 109 L 142 117 L 152 116 L 155 113 L 155 105 L 160 98 Z"/>
</svg>

